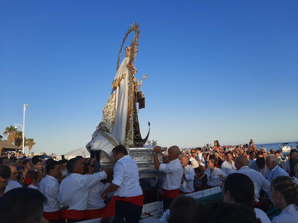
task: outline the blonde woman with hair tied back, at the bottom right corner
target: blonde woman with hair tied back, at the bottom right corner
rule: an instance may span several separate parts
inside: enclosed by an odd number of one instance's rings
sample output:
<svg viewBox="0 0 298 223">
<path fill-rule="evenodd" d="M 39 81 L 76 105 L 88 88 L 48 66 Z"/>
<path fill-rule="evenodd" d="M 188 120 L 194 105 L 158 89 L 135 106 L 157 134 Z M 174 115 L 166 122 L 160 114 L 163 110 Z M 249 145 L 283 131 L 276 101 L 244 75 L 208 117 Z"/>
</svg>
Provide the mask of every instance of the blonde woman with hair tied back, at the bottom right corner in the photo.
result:
<svg viewBox="0 0 298 223">
<path fill-rule="evenodd" d="M 288 176 L 278 176 L 270 185 L 273 204 L 283 210 L 272 219 L 272 223 L 291 223 L 298 219 L 298 180 Z"/>
</svg>

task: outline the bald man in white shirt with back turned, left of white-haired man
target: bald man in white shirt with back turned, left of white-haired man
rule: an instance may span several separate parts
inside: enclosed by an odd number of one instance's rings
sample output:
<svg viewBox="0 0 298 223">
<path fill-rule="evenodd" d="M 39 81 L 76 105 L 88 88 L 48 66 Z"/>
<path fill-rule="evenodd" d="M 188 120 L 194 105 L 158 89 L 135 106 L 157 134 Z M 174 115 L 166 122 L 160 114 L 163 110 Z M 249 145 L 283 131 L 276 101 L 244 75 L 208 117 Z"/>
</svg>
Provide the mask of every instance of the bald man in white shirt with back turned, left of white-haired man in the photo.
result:
<svg viewBox="0 0 298 223">
<path fill-rule="evenodd" d="M 237 169 L 236 173 L 245 174 L 257 186 L 258 191 L 257 191 L 256 198 L 258 200 L 254 202 L 254 207 L 256 207 L 258 205 L 261 205 L 260 200 L 259 200 L 261 189 L 266 191 L 270 197 L 270 183 L 266 180 L 266 178 L 262 174 L 260 174 L 259 172 L 257 172 L 254 169 L 249 168 L 248 164 L 249 164 L 249 161 L 246 158 L 246 156 L 238 156 L 235 160 L 235 166 Z"/>
</svg>

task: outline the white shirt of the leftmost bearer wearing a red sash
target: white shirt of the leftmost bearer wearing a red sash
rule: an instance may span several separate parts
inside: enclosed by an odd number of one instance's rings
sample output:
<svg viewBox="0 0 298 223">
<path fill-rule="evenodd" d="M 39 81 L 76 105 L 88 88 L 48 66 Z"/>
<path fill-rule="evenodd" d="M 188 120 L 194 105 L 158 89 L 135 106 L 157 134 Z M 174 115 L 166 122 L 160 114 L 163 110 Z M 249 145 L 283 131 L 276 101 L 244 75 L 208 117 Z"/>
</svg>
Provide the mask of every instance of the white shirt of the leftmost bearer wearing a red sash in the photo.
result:
<svg viewBox="0 0 298 223">
<path fill-rule="evenodd" d="M 48 199 L 44 205 L 44 212 L 53 212 L 60 210 L 60 202 L 58 201 L 60 193 L 60 183 L 55 177 L 46 175 L 38 184 L 38 190 Z"/>
</svg>

